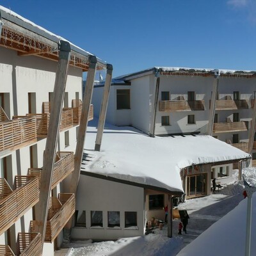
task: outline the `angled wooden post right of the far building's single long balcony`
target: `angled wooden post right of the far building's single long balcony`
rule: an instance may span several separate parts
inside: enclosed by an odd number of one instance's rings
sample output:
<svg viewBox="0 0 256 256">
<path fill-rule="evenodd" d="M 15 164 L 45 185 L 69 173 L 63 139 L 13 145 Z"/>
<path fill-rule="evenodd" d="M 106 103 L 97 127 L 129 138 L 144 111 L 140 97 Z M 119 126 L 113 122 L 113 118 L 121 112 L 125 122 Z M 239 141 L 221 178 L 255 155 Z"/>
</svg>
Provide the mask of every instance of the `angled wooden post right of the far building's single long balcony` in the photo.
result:
<svg viewBox="0 0 256 256">
<path fill-rule="evenodd" d="M 214 124 L 215 105 L 216 105 L 218 86 L 219 86 L 219 80 L 220 80 L 220 72 L 218 71 L 214 73 L 214 82 L 212 85 L 211 109 L 209 113 L 209 123 L 208 123 L 208 131 L 207 131 L 207 134 L 211 136 L 212 136 L 212 129 Z"/>
</svg>

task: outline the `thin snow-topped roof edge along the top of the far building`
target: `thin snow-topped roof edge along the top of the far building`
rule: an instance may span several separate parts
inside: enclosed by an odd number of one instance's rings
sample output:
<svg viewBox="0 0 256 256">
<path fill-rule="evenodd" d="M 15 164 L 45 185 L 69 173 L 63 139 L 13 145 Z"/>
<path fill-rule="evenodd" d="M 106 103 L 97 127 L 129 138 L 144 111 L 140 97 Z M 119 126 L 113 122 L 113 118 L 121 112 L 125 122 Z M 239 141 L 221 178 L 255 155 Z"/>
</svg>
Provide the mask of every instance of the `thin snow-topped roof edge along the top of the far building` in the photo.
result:
<svg viewBox="0 0 256 256">
<path fill-rule="evenodd" d="M 218 69 L 218 68 L 189 68 L 189 67 L 152 67 L 124 76 L 115 77 L 118 80 L 129 80 L 141 76 L 147 76 L 150 74 L 182 74 L 182 75 L 207 75 L 214 76 L 219 74 L 220 76 L 246 76 L 252 77 L 256 75 L 254 70 L 230 70 L 230 69 Z"/>
</svg>

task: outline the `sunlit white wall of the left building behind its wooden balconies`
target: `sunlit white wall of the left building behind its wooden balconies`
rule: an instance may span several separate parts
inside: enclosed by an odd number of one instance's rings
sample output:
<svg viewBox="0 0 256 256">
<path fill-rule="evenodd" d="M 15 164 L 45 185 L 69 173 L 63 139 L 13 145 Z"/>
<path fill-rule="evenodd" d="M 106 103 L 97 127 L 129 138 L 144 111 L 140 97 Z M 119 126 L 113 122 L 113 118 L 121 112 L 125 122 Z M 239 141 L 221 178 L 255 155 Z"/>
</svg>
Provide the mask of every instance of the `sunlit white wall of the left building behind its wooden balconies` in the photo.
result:
<svg viewBox="0 0 256 256">
<path fill-rule="evenodd" d="M 10 102 L 4 102 L 8 105 L 6 113 L 13 115 L 26 115 L 28 113 L 28 93 L 36 95 L 36 113 L 42 113 L 42 102 L 49 101 L 49 92 L 54 90 L 55 74 L 57 62 L 36 58 L 35 56 L 17 56 L 17 52 L 0 47 L 0 93 L 10 93 Z M 79 99 L 82 99 L 82 75 L 79 68 L 69 67 L 67 85 L 65 92 L 68 93 L 68 107 L 71 107 L 71 100 L 76 99 L 76 93 L 79 93 Z M 82 99 L 83 100 L 83 99 Z M 65 132 L 60 132 L 60 142 L 57 150 L 74 151 L 76 149 L 76 127 L 69 130 L 70 145 L 65 148 Z M 43 153 L 45 150 L 46 139 L 40 140 L 37 146 L 37 165 L 43 166 Z M 32 144 L 31 144 L 32 145 Z M 15 175 L 26 175 L 30 167 L 29 147 L 22 147 L 15 152 L 1 155 L 0 158 L 12 156 L 11 164 L 8 164 L 8 183 L 13 186 Z M 1 167 L 0 167 L 1 168 Z M 0 172 L 3 177 L 3 170 Z M 56 189 L 60 191 L 60 186 Z M 15 234 L 13 239 L 17 239 L 18 232 L 29 232 L 29 223 L 33 220 L 32 209 L 29 209 L 20 220 L 15 223 Z M 4 234 L 0 236 L 0 243 L 4 244 Z M 44 255 L 54 255 L 54 243 L 44 244 Z"/>
</svg>

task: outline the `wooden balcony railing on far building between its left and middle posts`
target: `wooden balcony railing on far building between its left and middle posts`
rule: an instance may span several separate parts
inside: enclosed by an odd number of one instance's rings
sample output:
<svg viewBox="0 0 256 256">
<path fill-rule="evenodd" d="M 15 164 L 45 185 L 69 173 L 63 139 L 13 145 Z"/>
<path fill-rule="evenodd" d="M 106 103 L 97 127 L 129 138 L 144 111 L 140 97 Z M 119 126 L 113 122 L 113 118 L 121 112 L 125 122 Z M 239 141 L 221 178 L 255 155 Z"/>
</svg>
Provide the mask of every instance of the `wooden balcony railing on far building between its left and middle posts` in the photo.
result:
<svg viewBox="0 0 256 256">
<path fill-rule="evenodd" d="M 204 110 L 204 100 L 163 100 L 159 101 L 159 111 L 198 111 Z"/>
</svg>

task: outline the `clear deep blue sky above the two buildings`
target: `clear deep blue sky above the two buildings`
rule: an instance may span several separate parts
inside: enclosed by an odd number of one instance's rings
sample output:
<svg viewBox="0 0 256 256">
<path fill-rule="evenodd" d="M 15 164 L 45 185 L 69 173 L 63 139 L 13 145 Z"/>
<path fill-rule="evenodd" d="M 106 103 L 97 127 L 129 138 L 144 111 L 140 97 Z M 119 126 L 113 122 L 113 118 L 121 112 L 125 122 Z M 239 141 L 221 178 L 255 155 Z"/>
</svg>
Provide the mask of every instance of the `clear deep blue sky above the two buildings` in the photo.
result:
<svg viewBox="0 0 256 256">
<path fill-rule="evenodd" d="M 113 65 L 256 70 L 255 0 L 0 0 Z M 103 74 L 104 76 L 104 74 Z"/>
</svg>

